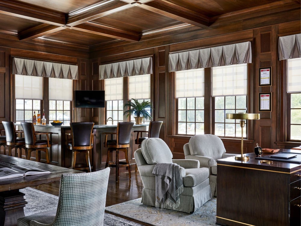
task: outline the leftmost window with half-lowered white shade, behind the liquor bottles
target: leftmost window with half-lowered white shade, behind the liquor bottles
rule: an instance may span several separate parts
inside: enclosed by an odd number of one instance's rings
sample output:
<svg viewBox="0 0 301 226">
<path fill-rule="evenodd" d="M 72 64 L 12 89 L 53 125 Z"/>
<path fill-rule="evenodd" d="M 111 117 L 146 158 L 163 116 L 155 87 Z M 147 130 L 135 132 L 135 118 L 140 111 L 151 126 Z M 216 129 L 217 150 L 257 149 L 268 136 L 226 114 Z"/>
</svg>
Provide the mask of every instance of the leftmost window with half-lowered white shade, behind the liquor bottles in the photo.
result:
<svg viewBox="0 0 301 226">
<path fill-rule="evenodd" d="M 42 77 L 15 75 L 16 122 L 33 121 L 41 110 Z"/>
</svg>

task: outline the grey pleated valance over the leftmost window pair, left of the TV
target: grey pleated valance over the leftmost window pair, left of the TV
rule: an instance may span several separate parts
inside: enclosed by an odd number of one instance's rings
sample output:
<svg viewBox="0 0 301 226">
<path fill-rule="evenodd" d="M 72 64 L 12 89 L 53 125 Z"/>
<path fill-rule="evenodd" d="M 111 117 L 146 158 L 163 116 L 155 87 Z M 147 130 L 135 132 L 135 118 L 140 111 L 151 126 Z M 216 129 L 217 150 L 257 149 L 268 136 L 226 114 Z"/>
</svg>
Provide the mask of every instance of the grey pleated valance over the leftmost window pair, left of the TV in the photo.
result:
<svg viewBox="0 0 301 226">
<path fill-rule="evenodd" d="M 12 74 L 77 79 L 78 67 L 71 64 L 13 58 Z"/>
</svg>

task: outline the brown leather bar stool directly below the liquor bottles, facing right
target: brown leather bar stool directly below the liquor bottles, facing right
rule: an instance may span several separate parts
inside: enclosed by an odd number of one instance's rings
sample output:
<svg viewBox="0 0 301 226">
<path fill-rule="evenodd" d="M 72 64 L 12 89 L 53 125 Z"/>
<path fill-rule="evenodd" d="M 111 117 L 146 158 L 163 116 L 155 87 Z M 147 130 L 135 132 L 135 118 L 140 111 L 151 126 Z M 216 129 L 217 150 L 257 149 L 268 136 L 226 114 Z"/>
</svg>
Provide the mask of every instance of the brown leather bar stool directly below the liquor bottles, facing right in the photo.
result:
<svg viewBox="0 0 301 226">
<path fill-rule="evenodd" d="M 28 149 L 26 159 L 30 159 L 31 152 L 36 151 L 36 162 L 41 162 L 41 151 L 45 152 L 46 163 L 49 164 L 48 148 L 51 147 L 51 141 L 48 134 L 51 132 L 36 132 L 32 122 L 21 122 L 24 130 L 25 147 Z M 37 135 L 46 135 L 46 140 L 37 140 Z"/>
</svg>

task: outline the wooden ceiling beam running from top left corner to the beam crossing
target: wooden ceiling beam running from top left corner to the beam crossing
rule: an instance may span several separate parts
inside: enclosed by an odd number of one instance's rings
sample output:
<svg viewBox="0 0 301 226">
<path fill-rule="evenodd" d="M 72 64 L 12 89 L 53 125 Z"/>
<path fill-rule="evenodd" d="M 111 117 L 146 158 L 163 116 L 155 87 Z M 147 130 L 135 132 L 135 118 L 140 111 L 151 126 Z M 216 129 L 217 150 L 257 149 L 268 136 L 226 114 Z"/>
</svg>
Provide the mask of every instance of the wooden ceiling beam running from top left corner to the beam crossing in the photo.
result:
<svg viewBox="0 0 301 226">
<path fill-rule="evenodd" d="M 64 26 L 66 24 L 65 14 L 8 0 L 0 0 L 0 13 L 55 26 Z"/>
</svg>

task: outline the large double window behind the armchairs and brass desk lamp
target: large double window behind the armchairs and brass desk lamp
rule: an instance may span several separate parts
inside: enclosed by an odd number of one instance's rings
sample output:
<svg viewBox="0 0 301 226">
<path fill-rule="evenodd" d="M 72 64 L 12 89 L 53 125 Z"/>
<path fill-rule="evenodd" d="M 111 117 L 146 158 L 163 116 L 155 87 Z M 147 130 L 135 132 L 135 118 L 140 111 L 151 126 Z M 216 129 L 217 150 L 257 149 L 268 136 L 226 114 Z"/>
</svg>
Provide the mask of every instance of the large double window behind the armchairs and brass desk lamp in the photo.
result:
<svg viewBox="0 0 301 226">
<path fill-rule="evenodd" d="M 236 64 L 206 70 L 176 71 L 175 98 L 177 103 L 178 135 L 212 133 L 220 137 L 241 137 L 239 120 L 225 119 L 226 113 L 246 112 L 247 109 L 247 64 Z M 210 83 L 211 81 L 211 83 Z M 204 93 L 211 87 L 211 93 Z M 212 109 L 204 103 L 212 102 Z M 212 117 L 209 117 L 212 111 Z M 206 121 L 207 119 L 211 119 Z M 212 128 L 205 131 L 205 127 Z M 244 137 L 247 127 L 244 127 Z"/>
</svg>

